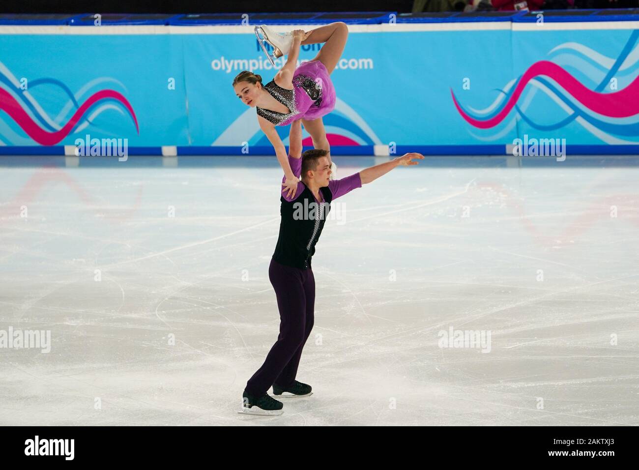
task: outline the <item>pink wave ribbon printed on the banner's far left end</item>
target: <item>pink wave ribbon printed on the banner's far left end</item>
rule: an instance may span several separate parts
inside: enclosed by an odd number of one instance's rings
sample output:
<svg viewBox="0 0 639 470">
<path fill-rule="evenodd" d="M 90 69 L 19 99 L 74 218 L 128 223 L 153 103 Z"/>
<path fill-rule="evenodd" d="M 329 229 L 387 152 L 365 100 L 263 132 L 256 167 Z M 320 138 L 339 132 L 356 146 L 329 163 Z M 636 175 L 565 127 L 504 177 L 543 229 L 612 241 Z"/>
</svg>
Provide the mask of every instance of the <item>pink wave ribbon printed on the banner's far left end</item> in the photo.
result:
<svg viewBox="0 0 639 470">
<path fill-rule="evenodd" d="M 137 130 L 137 133 L 139 134 L 140 129 L 137 125 L 137 118 L 135 117 L 133 107 L 128 102 L 127 98 L 115 90 L 100 90 L 93 93 L 93 95 L 82 103 L 82 106 L 75 110 L 75 113 L 71 116 L 70 120 L 67 121 L 65 126 L 56 132 L 49 132 L 42 129 L 42 127 L 36 124 L 35 121 L 29 117 L 29 114 L 22 109 L 19 102 L 17 102 L 17 100 L 15 100 L 8 91 L 3 90 L 2 88 L 0 88 L 0 110 L 7 113 L 22 128 L 22 130 L 31 137 L 31 139 L 35 140 L 40 145 L 55 145 L 68 136 L 89 107 L 93 106 L 96 102 L 107 98 L 114 98 L 118 100 L 128 109 L 128 112 L 131 113 L 135 122 L 135 130 Z"/>
</svg>

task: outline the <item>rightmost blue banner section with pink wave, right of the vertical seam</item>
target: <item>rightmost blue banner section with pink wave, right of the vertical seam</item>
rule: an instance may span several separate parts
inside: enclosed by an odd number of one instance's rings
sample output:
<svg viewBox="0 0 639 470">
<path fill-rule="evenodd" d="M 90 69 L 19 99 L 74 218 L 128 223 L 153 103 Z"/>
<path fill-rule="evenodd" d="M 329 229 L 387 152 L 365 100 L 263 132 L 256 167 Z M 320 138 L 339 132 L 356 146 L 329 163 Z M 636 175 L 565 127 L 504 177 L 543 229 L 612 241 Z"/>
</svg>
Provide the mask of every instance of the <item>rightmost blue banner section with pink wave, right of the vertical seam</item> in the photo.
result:
<svg viewBox="0 0 639 470">
<path fill-rule="evenodd" d="M 636 29 L 513 31 L 518 134 L 562 137 L 568 145 L 639 143 L 638 38 Z"/>
</svg>

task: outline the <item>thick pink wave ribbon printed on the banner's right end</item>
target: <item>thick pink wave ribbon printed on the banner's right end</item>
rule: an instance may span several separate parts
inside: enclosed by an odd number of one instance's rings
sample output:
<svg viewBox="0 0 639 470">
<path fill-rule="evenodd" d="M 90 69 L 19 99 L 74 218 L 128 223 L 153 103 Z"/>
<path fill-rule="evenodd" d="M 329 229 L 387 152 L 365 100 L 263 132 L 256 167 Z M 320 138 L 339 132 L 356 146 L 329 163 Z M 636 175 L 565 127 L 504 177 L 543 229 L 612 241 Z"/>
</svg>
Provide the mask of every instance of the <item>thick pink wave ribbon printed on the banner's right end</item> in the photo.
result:
<svg viewBox="0 0 639 470">
<path fill-rule="evenodd" d="M 628 116 L 639 114 L 639 76 L 623 90 L 613 93 L 597 93 L 597 91 L 589 90 L 583 86 L 573 75 L 566 72 L 566 70 L 557 64 L 545 60 L 535 62 L 526 70 L 502 111 L 488 120 L 482 121 L 468 116 L 459 106 L 452 92 L 452 88 L 450 89 L 450 95 L 452 95 L 452 100 L 457 111 L 468 123 L 479 127 L 479 129 L 488 129 L 504 120 L 515 106 L 528 82 L 537 75 L 550 77 L 583 104 L 583 106 L 588 107 L 590 111 L 594 111 L 595 113 L 611 118 L 627 118 Z"/>
</svg>

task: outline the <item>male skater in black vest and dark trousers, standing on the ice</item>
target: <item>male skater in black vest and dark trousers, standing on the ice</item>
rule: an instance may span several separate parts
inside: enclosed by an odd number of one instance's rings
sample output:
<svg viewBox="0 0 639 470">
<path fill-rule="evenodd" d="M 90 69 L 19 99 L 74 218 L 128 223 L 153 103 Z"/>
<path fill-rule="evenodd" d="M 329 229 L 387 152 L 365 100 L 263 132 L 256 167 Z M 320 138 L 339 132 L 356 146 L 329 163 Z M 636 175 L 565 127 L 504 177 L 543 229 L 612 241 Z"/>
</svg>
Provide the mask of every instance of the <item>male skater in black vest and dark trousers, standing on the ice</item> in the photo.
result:
<svg viewBox="0 0 639 470">
<path fill-rule="evenodd" d="M 268 268 L 268 278 L 275 289 L 280 313 L 280 333 L 264 364 L 246 384 L 240 411 L 245 414 L 282 414 L 282 402 L 266 394 L 270 386 L 278 397 L 312 395 L 311 386 L 295 380 L 295 375 L 302 348 L 313 326 L 315 279 L 311 258 L 330 210 L 330 202 L 399 165 L 417 165 L 418 162 L 413 159 L 424 159 L 420 153 L 406 153 L 341 180 L 330 180 L 327 150 L 307 150 L 302 155 L 300 120 L 291 123 L 289 139 L 289 164 L 295 175 L 300 175 L 301 169 L 300 182 L 295 196 L 289 196 L 286 189 L 282 191 L 287 194 L 280 198 L 282 219 L 279 238 Z M 285 179 L 282 179 L 282 186 Z"/>
</svg>

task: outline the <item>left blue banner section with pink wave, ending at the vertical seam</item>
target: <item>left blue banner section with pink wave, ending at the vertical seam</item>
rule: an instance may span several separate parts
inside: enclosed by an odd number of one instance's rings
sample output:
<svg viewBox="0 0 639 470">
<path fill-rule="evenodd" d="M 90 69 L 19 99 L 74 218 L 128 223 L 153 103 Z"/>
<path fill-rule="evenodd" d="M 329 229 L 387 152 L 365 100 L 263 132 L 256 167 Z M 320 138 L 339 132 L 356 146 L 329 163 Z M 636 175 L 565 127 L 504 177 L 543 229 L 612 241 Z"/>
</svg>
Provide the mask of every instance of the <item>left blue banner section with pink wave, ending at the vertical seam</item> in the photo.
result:
<svg viewBox="0 0 639 470">
<path fill-rule="evenodd" d="M 0 51 L 1 145 L 73 145 L 86 134 L 189 143 L 179 38 L 11 34 Z"/>
</svg>

